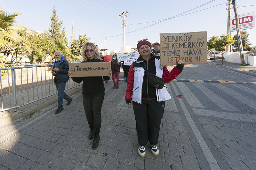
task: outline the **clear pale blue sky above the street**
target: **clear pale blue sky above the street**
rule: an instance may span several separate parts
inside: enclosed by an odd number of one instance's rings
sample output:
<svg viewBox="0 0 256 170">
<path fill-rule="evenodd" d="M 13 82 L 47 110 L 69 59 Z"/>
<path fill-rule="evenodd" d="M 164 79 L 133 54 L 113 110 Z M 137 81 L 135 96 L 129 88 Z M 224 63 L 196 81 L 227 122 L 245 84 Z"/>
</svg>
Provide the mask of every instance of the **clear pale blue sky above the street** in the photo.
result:
<svg viewBox="0 0 256 170">
<path fill-rule="evenodd" d="M 125 27 L 126 45 L 135 48 L 137 42 L 144 38 L 148 38 L 150 42 L 159 42 L 159 33 L 207 31 L 207 39 L 214 35 L 226 34 L 227 0 L 215 0 L 187 13 L 198 12 L 172 18 L 154 26 L 147 27 L 156 22 L 144 23 L 171 18 L 207 2 L 210 0 L 0 0 L 4 10 L 22 14 L 17 17 L 18 25 L 42 32 L 50 26 L 50 16 L 53 5 L 55 5 L 59 19 L 63 20 L 69 41 L 71 40 L 72 21 L 75 21 L 75 39 L 79 35 L 86 34 L 87 37 L 91 38 L 91 42 L 98 44 L 99 48 L 104 48 L 104 37 L 106 36 L 106 48 L 109 50 L 119 49 L 123 46 L 123 35 L 111 37 L 123 33 L 123 19 L 118 17 L 123 11 L 131 13 L 125 18 L 127 24 Z M 256 14 L 255 0 L 237 0 L 237 5 L 238 14 L 248 12 Z M 231 9 L 232 17 L 234 17 L 233 9 Z M 147 28 L 134 31 L 143 27 Z M 128 33 L 131 31 L 134 32 Z M 248 37 L 250 42 L 254 43 L 255 46 L 256 26 L 246 31 L 250 34 Z M 232 36 L 235 34 L 236 32 L 231 32 Z"/>
</svg>

